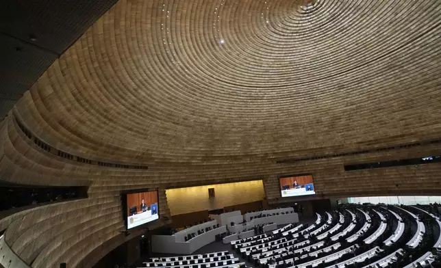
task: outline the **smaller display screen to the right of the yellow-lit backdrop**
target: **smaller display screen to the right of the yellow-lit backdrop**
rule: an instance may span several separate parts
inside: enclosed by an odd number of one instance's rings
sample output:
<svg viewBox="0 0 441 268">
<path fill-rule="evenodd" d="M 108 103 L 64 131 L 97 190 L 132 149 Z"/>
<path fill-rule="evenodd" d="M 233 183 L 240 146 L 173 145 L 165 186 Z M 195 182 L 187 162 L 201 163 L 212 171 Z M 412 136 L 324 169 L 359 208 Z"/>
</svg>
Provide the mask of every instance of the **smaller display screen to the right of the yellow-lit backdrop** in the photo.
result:
<svg viewBox="0 0 441 268">
<path fill-rule="evenodd" d="M 315 194 L 312 175 L 279 177 L 281 197 L 307 196 Z"/>
</svg>

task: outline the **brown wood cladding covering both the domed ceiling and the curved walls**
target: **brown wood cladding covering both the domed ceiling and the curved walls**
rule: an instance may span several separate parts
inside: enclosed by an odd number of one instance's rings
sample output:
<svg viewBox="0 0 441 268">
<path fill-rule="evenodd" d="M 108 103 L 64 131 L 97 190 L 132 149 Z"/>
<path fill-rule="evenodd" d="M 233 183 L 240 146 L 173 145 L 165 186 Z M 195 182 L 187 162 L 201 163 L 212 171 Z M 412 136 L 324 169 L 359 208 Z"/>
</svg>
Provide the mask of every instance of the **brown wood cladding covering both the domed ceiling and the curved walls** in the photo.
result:
<svg viewBox="0 0 441 268">
<path fill-rule="evenodd" d="M 0 219 L 34 268 L 83 259 L 123 230 L 121 191 L 312 174 L 316 198 L 440 194 L 441 164 L 344 172 L 344 163 L 441 155 L 441 2 L 121 0 L 0 123 L 0 177 L 88 185 L 89 198 Z M 43 150 L 23 133 L 51 146 Z M 90 165 L 52 150 L 121 165 Z M 216 197 L 218 196 L 216 192 Z M 179 214 L 181 212 L 177 212 Z"/>
</svg>

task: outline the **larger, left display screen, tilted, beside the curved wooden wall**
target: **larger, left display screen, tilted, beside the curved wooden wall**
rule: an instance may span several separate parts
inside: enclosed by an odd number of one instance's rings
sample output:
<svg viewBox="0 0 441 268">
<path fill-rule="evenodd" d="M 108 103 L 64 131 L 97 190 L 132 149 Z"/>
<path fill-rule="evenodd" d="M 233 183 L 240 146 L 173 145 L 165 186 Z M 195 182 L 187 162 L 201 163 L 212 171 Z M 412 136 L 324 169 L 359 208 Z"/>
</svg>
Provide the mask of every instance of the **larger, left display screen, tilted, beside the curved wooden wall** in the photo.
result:
<svg viewBox="0 0 441 268">
<path fill-rule="evenodd" d="M 141 193 L 127 193 L 127 230 L 147 224 L 159 219 L 159 207 L 157 206 L 157 191 L 144 191 Z"/>
</svg>

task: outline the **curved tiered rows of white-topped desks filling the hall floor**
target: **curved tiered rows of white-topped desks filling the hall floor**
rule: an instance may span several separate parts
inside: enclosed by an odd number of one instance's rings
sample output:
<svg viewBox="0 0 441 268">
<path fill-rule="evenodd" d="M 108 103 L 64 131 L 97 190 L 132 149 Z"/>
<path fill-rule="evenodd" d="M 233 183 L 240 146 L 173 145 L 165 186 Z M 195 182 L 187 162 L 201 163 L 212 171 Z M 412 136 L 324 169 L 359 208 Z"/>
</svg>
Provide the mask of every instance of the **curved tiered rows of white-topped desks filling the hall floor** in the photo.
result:
<svg viewBox="0 0 441 268">
<path fill-rule="evenodd" d="M 441 221 L 436 215 L 423 209 L 418 207 L 414 207 L 414 209 L 418 209 L 420 212 L 412 209 L 412 213 L 408 207 L 377 207 L 375 209 L 364 207 L 364 209 L 353 209 L 352 211 L 349 209 L 338 213 L 326 213 L 327 219 L 318 215 L 317 221 L 312 224 L 312 227 L 305 228 L 303 224 L 298 226 L 288 224 L 271 235 L 257 235 L 249 239 L 240 239 L 231 245 L 236 252 L 263 268 L 385 268 L 389 265 L 410 268 L 418 263 L 424 266 L 426 260 L 431 263 L 436 256 L 427 252 L 409 263 L 404 258 L 408 254 L 407 247 L 404 246 L 426 248 L 421 247 L 421 245 L 427 245 L 427 241 L 429 241 L 425 232 L 427 221 L 423 223 L 420 220 L 420 217 L 427 218 L 423 213 L 433 217 L 440 228 Z M 414 235 L 412 235 L 409 226 L 405 224 L 409 220 L 416 222 L 417 230 Z M 392 230 L 390 224 L 394 222 L 396 222 L 396 228 Z M 338 233 L 334 234 L 335 232 Z M 380 238 L 382 240 L 379 240 Z M 434 247 L 439 247 L 441 236 L 434 241 L 436 241 Z M 351 245 L 351 243 L 355 243 L 355 245 Z M 378 243 L 388 245 L 390 250 L 381 249 L 377 246 Z M 193 255 L 168 259 L 158 258 L 152 263 L 146 264 L 147 267 L 164 268 L 218 268 L 244 265 L 239 263 L 239 259 L 234 258 L 233 254 L 227 254 L 227 252 L 218 252 L 217 254 L 225 259 L 220 259 L 218 256 Z"/>
</svg>

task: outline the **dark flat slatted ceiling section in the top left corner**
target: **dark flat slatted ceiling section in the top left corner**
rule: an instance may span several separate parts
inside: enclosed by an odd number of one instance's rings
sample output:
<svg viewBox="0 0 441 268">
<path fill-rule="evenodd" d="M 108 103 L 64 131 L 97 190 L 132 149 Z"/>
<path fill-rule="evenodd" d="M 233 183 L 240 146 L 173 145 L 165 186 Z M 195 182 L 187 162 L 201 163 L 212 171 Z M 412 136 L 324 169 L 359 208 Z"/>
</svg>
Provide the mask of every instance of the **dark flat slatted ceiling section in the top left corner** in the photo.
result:
<svg viewBox="0 0 441 268">
<path fill-rule="evenodd" d="M 116 0 L 0 1 L 0 120 Z"/>
</svg>

